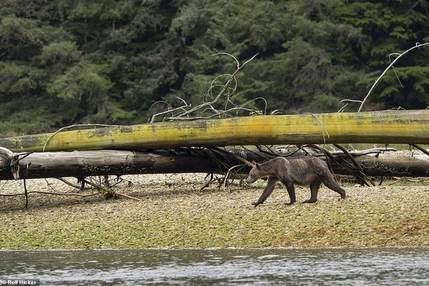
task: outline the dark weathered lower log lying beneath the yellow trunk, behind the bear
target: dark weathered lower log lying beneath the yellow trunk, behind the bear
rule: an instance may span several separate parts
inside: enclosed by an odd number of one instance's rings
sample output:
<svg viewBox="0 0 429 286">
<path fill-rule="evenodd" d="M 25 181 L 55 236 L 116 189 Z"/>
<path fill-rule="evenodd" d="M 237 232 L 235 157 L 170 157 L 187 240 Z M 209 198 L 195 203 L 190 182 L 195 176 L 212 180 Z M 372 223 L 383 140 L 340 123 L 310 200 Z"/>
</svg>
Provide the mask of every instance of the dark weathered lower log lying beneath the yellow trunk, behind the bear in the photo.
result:
<svg viewBox="0 0 429 286">
<path fill-rule="evenodd" d="M 241 156 L 249 161 L 265 161 L 266 154 L 241 151 Z M 338 163 L 332 163 L 338 175 L 354 175 L 339 163 L 348 160 L 336 156 Z M 429 177 L 429 157 L 417 159 L 405 155 L 379 154 L 358 156 L 354 160 L 368 176 L 387 177 Z M 225 174 L 232 166 L 242 162 L 227 153 L 208 149 L 159 150 L 154 152 L 134 152 L 120 150 L 36 152 L 19 161 L 19 177 L 35 179 L 48 177 L 89 177 L 102 175 L 135 175 L 180 172 L 206 172 Z M 250 170 L 244 166 L 240 173 Z M 0 156 L 0 179 L 14 179 L 10 161 Z"/>
</svg>

